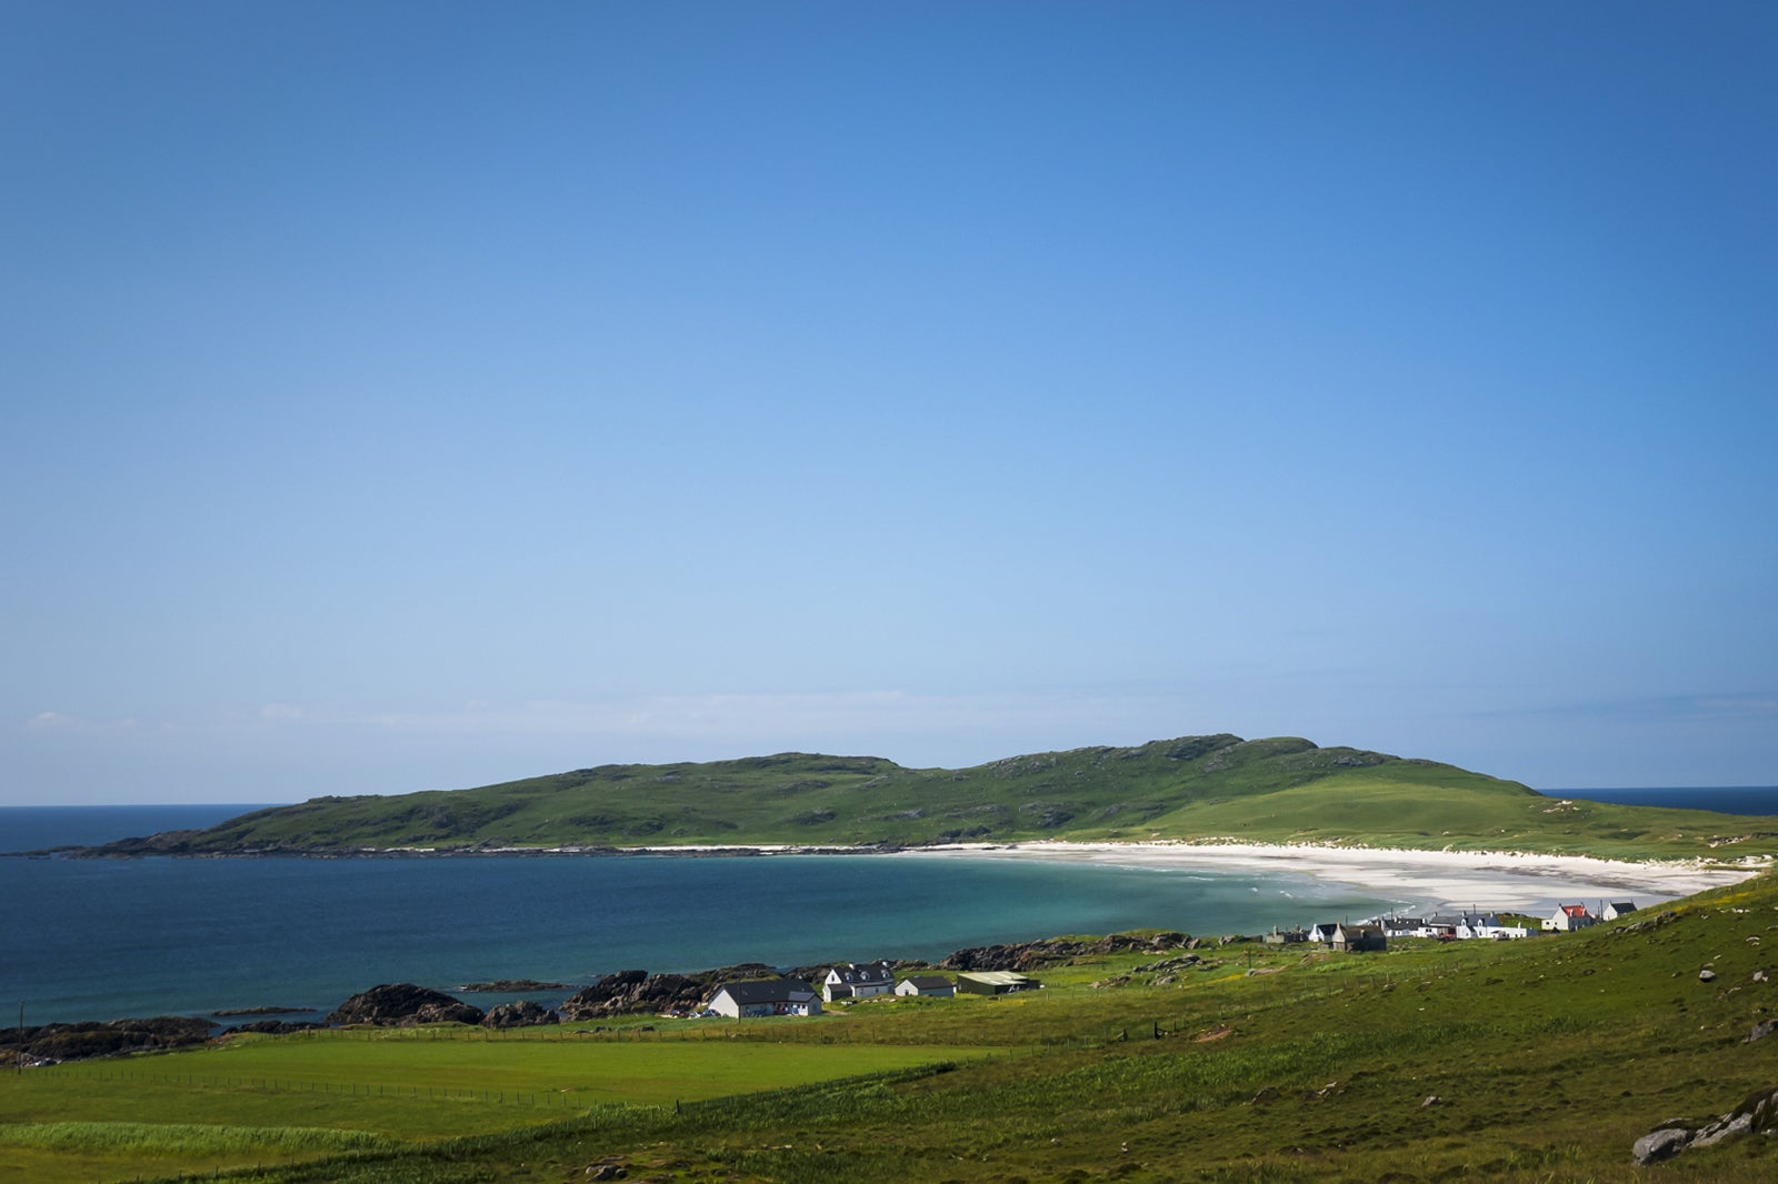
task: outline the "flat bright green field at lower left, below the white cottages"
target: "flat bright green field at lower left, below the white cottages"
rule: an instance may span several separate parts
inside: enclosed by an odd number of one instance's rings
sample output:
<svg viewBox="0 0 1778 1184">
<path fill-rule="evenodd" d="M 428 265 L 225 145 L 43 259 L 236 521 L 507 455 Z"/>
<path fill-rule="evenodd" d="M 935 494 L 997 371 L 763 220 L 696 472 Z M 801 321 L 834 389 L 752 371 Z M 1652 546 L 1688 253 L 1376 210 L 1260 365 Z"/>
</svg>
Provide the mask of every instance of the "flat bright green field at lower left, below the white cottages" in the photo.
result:
<svg viewBox="0 0 1778 1184">
<path fill-rule="evenodd" d="M 660 1035 L 331 1029 L 7 1074 L 0 1180 L 281 1163 L 990 1052 L 779 1038 L 797 1028 L 704 1020 Z M 119 1175 L 124 1170 L 130 1175 Z"/>
</svg>

